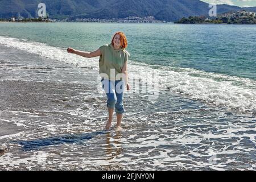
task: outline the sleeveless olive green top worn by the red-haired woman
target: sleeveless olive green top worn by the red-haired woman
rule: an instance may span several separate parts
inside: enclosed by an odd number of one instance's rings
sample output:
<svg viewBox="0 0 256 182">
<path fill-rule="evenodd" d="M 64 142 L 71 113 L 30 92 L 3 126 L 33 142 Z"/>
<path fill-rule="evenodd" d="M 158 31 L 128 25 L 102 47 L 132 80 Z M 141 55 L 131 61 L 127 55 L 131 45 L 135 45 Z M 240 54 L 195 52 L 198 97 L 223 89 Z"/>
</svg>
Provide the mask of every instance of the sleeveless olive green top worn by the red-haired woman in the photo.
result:
<svg viewBox="0 0 256 182">
<path fill-rule="evenodd" d="M 101 77 L 109 80 L 122 80 L 116 78 L 116 76 L 118 73 L 122 73 L 123 65 L 128 60 L 128 56 L 130 56 L 129 52 L 124 48 L 114 49 L 111 43 L 101 46 L 100 51 L 99 67 Z"/>
</svg>

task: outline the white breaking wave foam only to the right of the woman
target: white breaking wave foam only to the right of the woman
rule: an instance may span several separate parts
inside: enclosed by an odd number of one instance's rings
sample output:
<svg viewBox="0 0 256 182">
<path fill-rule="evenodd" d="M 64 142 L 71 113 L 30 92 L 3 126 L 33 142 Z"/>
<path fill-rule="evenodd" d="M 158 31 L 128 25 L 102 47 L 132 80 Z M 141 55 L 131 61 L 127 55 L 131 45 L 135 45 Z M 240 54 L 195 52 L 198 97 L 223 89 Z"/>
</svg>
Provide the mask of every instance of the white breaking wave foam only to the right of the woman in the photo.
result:
<svg viewBox="0 0 256 182">
<path fill-rule="evenodd" d="M 135 70 L 135 74 L 141 77 L 142 80 L 145 77 L 142 74 L 143 71 L 158 73 L 159 88 L 168 88 L 172 92 L 185 94 L 195 100 L 225 106 L 229 109 L 256 113 L 256 81 L 249 78 L 225 76 L 183 68 L 180 68 L 181 72 L 177 72 L 171 69 L 166 71 L 150 67 L 145 68 L 145 66 L 129 65 L 129 69 Z M 191 76 L 193 73 L 197 73 L 198 76 Z M 217 79 L 218 77 L 220 79 Z M 238 83 L 240 85 L 237 85 Z"/>
</svg>

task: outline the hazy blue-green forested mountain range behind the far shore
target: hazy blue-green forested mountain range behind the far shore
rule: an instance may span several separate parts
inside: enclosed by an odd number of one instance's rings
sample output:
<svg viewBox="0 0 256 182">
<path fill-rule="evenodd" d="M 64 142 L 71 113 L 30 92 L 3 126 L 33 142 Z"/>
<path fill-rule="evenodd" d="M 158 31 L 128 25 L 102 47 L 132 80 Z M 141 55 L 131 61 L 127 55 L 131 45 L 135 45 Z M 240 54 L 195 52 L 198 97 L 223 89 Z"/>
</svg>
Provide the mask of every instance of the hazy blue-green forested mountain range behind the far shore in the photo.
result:
<svg viewBox="0 0 256 182">
<path fill-rule="evenodd" d="M 46 4 L 49 18 L 126 18 L 155 16 L 174 21 L 188 16 L 207 15 L 208 3 L 199 0 L 0 0 L 0 18 L 36 17 L 38 4 Z M 243 8 L 256 11 L 256 7 Z M 217 13 L 238 11 L 241 7 L 218 5 Z"/>
</svg>

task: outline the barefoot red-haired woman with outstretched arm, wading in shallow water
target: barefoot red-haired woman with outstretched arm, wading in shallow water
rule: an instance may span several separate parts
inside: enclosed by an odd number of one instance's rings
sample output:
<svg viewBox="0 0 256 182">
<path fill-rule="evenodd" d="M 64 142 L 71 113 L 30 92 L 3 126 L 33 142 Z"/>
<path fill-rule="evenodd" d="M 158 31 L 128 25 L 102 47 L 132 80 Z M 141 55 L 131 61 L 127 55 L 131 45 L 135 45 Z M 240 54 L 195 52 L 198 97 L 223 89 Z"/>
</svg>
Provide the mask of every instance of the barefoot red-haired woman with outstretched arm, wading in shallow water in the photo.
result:
<svg viewBox="0 0 256 182">
<path fill-rule="evenodd" d="M 84 52 L 73 48 L 67 51 L 75 53 L 83 57 L 100 56 L 99 66 L 100 75 L 102 77 L 102 87 L 108 97 L 107 107 L 109 111 L 109 119 L 106 123 L 106 130 L 110 129 L 113 113 L 117 113 L 117 130 L 121 130 L 121 120 L 123 117 L 123 84 L 126 89 L 130 90 L 131 86 L 128 82 L 127 60 L 130 54 L 125 50 L 127 47 L 127 39 L 123 32 L 116 32 L 110 44 L 101 46 L 96 51 Z M 125 81 L 125 83 L 123 83 Z"/>
</svg>

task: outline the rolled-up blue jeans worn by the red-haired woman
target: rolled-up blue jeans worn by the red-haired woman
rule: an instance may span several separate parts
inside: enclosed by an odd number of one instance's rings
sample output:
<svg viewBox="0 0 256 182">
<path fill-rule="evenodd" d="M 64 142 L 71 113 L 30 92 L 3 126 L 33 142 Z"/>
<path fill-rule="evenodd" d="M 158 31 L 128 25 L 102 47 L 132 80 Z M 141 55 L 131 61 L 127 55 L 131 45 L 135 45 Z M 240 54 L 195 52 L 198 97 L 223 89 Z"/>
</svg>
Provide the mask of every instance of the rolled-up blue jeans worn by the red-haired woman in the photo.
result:
<svg viewBox="0 0 256 182">
<path fill-rule="evenodd" d="M 106 96 L 108 97 L 107 107 L 111 109 L 115 108 L 115 113 L 117 114 L 123 114 L 123 81 L 112 81 L 102 78 L 101 84 L 102 88 L 105 90 Z"/>
</svg>

